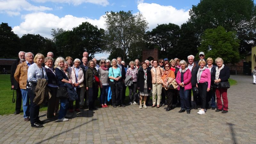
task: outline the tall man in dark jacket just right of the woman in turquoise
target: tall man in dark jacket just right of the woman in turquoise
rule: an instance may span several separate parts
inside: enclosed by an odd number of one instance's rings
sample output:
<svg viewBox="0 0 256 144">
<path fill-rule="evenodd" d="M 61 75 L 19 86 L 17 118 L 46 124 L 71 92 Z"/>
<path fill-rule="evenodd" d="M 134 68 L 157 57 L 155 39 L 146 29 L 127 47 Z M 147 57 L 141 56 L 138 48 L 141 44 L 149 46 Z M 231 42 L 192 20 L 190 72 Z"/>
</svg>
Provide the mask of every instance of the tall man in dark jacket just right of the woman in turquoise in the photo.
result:
<svg viewBox="0 0 256 144">
<path fill-rule="evenodd" d="M 121 72 L 122 72 L 122 85 L 123 87 L 120 89 L 120 100 L 121 100 L 121 106 L 125 106 L 124 104 L 124 100 L 125 100 L 125 90 L 126 90 L 126 86 L 124 85 L 124 80 L 125 80 L 125 69 L 124 69 L 124 65 L 122 65 L 122 58 L 121 57 L 117 57 L 116 58 L 118 64 L 117 67 L 120 68 Z M 134 103 L 135 104 L 135 103 Z M 137 103 L 136 103 L 137 104 Z"/>
</svg>

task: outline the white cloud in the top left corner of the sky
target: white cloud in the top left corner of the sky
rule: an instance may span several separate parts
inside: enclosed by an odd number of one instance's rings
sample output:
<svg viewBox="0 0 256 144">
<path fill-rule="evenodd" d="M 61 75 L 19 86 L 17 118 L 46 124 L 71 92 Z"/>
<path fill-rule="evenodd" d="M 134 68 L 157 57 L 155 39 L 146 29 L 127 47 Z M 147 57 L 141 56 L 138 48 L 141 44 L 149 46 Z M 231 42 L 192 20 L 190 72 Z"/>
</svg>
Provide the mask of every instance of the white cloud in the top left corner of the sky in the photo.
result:
<svg viewBox="0 0 256 144">
<path fill-rule="evenodd" d="M 20 11 L 49 11 L 52 8 L 45 6 L 35 6 L 28 3 L 26 0 L 1 0 L 0 12 L 5 12 L 10 16 L 19 15 Z"/>
</svg>

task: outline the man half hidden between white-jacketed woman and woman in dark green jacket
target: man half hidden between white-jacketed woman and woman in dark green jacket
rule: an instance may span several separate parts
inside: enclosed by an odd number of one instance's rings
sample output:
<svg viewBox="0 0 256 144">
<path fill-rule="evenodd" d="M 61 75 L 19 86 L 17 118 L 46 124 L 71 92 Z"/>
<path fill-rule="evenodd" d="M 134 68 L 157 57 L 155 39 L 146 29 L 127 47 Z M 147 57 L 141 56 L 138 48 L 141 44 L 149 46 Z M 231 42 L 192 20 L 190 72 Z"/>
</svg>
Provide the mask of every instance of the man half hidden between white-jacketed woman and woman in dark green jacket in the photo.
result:
<svg viewBox="0 0 256 144">
<path fill-rule="evenodd" d="M 87 52 L 88 53 L 88 52 Z M 85 76 L 85 73 L 86 73 L 86 70 L 88 69 L 88 66 L 87 66 L 87 64 L 88 64 L 88 58 L 87 57 L 83 57 L 82 58 L 82 64 L 80 65 L 80 67 L 83 69 L 83 73 L 84 73 L 84 76 Z M 84 87 L 86 87 L 86 81 L 85 81 L 85 79 L 84 79 Z M 84 92 L 84 97 L 83 96 L 81 96 L 80 95 L 80 103 L 79 103 L 79 105 L 80 105 L 80 108 L 81 109 L 83 109 L 84 108 L 84 99 L 85 99 L 85 101 L 86 101 L 86 105 L 88 106 L 89 105 L 89 102 L 88 102 L 88 96 L 89 96 L 89 93 L 88 93 L 89 91 L 86 91 L 85 90 L 85 92 Z"/>
</svg>

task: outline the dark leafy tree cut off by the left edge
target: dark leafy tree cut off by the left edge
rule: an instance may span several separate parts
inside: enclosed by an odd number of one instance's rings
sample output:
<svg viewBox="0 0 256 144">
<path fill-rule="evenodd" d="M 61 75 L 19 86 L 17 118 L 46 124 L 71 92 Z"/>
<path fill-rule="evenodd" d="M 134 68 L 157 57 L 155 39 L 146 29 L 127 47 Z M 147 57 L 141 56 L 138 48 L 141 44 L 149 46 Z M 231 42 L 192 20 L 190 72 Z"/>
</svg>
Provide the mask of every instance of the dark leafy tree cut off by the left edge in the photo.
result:
<svg viewBox="0 0 256 144">
<path fill-rule="evenodd" d="M 0 57 L 17 58 L 20 51 L 20 38 L 14 34 L 8 23 L 0 24 Z"/>
</svg>

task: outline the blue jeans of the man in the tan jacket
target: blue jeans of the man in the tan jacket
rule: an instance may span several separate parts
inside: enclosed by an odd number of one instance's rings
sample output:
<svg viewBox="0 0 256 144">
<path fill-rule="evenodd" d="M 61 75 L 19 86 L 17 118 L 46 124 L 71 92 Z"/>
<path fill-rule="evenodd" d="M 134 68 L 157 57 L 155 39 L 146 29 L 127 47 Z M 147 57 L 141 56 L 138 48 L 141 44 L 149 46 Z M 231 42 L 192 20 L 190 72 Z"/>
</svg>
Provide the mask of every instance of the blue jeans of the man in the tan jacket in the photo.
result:
<svg viewBox="0 0 256 144">
<path fill-rule="evenodd" d="M 21 91 L 21 95 L 22 95 L 22 108 L 23 108 L 23 112 L 24 112 L 24 118 L 29 117 L 30 113 L 29 113 L 29 98 L 28 98 L 28 91 L 25 89 L 20 89 Z"/>
</svg>

